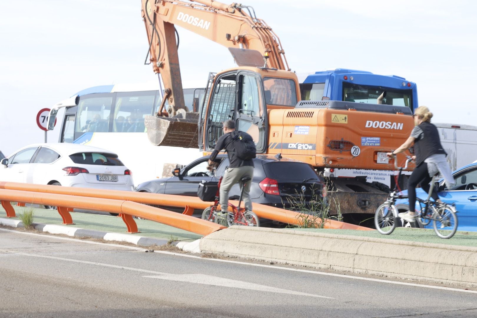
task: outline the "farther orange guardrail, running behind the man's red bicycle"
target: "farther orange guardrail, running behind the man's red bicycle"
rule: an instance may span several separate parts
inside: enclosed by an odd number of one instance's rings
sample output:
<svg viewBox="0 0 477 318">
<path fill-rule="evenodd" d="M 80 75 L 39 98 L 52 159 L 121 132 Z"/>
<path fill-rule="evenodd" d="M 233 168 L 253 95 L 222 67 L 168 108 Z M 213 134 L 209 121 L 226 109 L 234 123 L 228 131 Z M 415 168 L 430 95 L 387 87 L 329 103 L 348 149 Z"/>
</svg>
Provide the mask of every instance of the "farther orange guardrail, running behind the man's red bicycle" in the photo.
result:
<svg viewBox="0 0 477 318">
<path fill-rule="evenodd" d="M 205 209 L 211 205 L 210 202 L 204 202 L 197 196 L 186 195 L 165 195 L 145 192 L 118 191 L 118 190 L 98 190 L 90 188 L 64 187 L 61 185 L 34 185 L 15 182 L 0 182 L 0 189 L 23 190 L 42 193 L 56 193 L 63 195 L 80 195 L 95 198 L 108 198 L 115 200 L 134 201 L 137 203 L 162 205 L 173 207 L 184 207 L 183 214 L 191 215 L 193 209 Z M 237 205 L 238 201 L 230 201 Z M 301 213 L 280 209 L 269 205 L 252 203 L 253 212 L 259 217 L 279 221 L 291 225 L 299 225 L 301 222 Z M 139 216 L 139 215 L 138 215 Z M 357 226 L 345 222 L 327 219 L 324 228 L 332 229 L 353 229 L 353 230 L 372 230 L 368 227 Z"/>
</svg>

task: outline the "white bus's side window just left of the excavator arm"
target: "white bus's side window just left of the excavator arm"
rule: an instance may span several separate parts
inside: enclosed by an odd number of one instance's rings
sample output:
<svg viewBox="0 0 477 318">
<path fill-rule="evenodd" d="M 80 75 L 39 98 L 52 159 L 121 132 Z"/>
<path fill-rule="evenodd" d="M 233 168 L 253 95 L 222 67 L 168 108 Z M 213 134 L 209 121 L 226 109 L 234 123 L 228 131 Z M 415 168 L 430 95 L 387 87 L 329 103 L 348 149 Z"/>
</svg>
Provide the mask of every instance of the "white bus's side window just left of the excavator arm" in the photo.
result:
<svg viewBox="0 0 477 318">
<path fill-rule="evenodd" d="M 113 132 L 144 133 L 144 118 L 152 115 L 156 91 L 117 93 Z"/>
</svg>

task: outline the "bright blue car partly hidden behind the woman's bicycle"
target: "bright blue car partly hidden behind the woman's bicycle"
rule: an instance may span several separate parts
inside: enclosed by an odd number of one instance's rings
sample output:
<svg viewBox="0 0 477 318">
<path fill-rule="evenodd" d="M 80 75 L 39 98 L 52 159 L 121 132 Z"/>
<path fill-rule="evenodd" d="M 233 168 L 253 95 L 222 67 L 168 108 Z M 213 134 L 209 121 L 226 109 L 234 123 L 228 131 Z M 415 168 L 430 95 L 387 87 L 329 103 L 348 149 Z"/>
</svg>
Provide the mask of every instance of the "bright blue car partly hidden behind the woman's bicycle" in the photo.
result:
<svg viewBox="0 0 477 318">
<path fill-rule="evenodd" d="M 453 175 L 456 179 L 456 185 L 447 189 L 444 179 L 441 179 L 439 180 L 437 194 L 447 204 L 454 203 L 456 205 L 458 231 L 477 232 L 477 161 L 457 169 L 453 172 Z M 404 190 L 403 194 L 407 195 L 407 190 Z M 423 200 L 427 198 L 427 193 L 422 188 L 416 189 L 416 195 Z M 400 199 L 396 200 L 395 205 L 399 212 L 404 212 L 408 209 L 408 204 L 407 199 Z M 416 210 L 420 210 L 418 202 L 416 203 Z M 415 224 L 419 225 L 417 222 Z M 424 227 L 432 228 L 432 224 Z"/>
</svg>

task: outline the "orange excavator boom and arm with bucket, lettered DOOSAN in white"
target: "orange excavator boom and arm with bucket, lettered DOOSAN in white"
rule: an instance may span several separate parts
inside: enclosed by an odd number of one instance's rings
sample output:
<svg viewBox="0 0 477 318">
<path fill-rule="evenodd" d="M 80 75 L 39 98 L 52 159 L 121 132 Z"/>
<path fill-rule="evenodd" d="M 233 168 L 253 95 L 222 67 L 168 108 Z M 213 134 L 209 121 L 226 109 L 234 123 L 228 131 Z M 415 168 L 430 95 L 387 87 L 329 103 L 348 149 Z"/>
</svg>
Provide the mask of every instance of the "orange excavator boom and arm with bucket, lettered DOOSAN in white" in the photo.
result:
<svg viewBox="0 0 477 318">
<path fill-rule="evenodd" d="M 228 47 L 239 66 L 290 70 L 280 40 L 249 6 L 214 0 L 142 0 L 142 17 L 149 41 L 148 62 L 161 74 L 165 89 L 156 116 L 145 118 L 153 144 L 197 147 L 198 116 L 184 103 L 176 25 Z M 256 54 L 252 58 L 252 50 L 259 52 L 258 59 Z"/>
</svg>

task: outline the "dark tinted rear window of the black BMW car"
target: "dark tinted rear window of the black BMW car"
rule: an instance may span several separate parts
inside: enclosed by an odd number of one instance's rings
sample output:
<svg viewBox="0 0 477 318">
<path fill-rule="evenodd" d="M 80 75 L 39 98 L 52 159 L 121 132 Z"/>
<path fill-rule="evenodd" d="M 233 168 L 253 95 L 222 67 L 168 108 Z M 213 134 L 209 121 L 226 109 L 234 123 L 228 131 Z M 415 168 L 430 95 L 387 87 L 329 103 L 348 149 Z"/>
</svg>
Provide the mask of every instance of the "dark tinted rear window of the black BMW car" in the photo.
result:
<svg viewBox="0 0 477 318">
<path fill-rule="evenodd" d="M 277 161 L 263 165 L 267 177 L 279 181 L 284 180 L 320 180 L 316 171 L 309 164 L 300 162 Z"/>
</svg>

